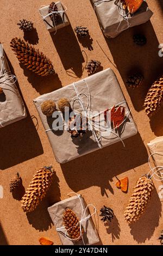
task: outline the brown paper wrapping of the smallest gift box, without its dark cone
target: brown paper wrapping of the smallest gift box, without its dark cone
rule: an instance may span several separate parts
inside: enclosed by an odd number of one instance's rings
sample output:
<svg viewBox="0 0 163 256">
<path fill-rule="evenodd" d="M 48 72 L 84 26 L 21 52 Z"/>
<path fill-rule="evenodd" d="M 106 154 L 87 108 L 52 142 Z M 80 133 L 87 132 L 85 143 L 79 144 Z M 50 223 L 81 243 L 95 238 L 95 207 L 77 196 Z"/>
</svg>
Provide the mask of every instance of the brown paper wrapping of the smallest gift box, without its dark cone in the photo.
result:
<svg viewBox="0 0 163 256">
<path fill-rule="evenodd" d="M 59 11 L 65 10 L 65 8 L 64 8 L 63 5 L 61 4 L 61 2 L 57 2 L 57 3 L 55 3 L 55 4 L 57 5 Z M 49 5 L 46 6 L 46 7 L 42 7 L 42 8 L 39 9 L 40 14 L 41 14 L 43 17 L 45 17 L 45 16 L 49 13 L 48 10 L 49 10 Z M 66 26 L 70 25 L 70 22 L 69 22 L 69 20 L 68 20 L 67 14 L 66 14 L 66 13 L 62 13 L 62 14 L 60 14 L 60 15 L 61 15 L 62 19 L 59 19 L 59 22 L 55 24 L 56 28 L 55 28 L 55 26 L 54 26 L 54 24 L 53 24 L 53 21 L 51 20 L 51 18 L 50 18 L 49 16 L 46 17 L 45 20 L 43 20 L 43 22 L 45 23 L 45 26 L 46 26 L 47 30 L 48 30 L 50 33 L 51 33 L 51 32 L 55 32 L 55 30 L 57 31 L 57 30 L 60 29 L 60 28 L 63 28 L 63 27 L 66 27 Z M 62 20 L 64 20 L 64 22 L 63 22 Z"/>
</svg>

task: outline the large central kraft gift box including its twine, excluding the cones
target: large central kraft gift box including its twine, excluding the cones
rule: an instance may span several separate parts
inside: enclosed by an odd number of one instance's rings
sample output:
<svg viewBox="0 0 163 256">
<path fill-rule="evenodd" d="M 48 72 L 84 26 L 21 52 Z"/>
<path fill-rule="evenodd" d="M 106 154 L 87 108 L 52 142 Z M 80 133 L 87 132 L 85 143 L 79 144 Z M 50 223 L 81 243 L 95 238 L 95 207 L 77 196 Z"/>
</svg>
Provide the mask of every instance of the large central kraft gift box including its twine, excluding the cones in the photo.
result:
<svg viewBox="0 0 163 256">
<path fill-rule="evenodd" d="M 71 107 L 75 113 L 82 113 L 89 120 L 89 131 L 86 131 L 83 137 L 72 138 L 66 126 L 63 129 L 61 122 L 59 122 L 59 129 L 57 130 L 56 117 L 54 115 L 53 117 L 46 117 L 42 113 L 41 105 L 43 102 L 52 100 L 57 103 L 63 97 L 71 102 Z M 124 99 L 120 84 L 114 71 L 110 68 L 52 93 L 41 95 L 34 100 L 34 103 L 51 143 L 55 159 L 59 163 L 66 163 L 99 148 L 116 142 L 123 142 L 124 139 L 137 133 L 137 127 Z M 115 114 L 115 117 L 117 115 L 117 118 L 120 117 L 120 119 L 121 115 L 124 116 L 124 120 L 122 118 L 122 123 L 118 125 L 119 127 L 115 127 L 116 129 L 112 127 L 112 123 L 110 127 L 110 121 L 108 123 L 109 117 L 107 119 L 106 115 L 110 112 L 112 113 L 111 116 Z M 93 119 L 92 122 L 91 118 Z M 114 122 L 115 126 L 117 126 L 117 121 Z"/>
</svg>

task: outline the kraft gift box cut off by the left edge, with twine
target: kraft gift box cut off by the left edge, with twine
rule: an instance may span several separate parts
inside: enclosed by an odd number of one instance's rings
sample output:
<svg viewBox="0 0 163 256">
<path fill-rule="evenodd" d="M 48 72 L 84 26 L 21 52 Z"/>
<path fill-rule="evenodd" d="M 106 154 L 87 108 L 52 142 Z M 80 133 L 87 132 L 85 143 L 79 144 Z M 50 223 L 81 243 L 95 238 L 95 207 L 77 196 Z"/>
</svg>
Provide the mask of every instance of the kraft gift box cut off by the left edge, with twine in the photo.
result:
<svg viewBox="0 0 163 256">
<path fill-rule="evenodd" d="M 26 108 L 11 74 L 3 46 L 0 44 L 0 128 L 26 118 Z"/>
</svg>

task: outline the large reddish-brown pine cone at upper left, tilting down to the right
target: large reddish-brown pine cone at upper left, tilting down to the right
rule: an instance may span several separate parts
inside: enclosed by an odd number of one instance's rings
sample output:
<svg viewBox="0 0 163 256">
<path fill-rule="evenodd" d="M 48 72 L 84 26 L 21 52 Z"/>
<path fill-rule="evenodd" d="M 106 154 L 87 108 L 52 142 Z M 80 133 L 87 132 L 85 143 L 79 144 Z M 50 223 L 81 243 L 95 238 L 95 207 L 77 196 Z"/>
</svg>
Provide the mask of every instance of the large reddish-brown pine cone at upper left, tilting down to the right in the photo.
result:
<svg viewBox="0 0 163 256">
<path fill-rule="evenodd" d="M 54 73 L 52 62 L 39 50 L 21 39 L 14 38 L 11 40 L 12 51 L 20 62 L 27 69 L 32 70 L 40 76 L 47 76 Z"/>
</svg>

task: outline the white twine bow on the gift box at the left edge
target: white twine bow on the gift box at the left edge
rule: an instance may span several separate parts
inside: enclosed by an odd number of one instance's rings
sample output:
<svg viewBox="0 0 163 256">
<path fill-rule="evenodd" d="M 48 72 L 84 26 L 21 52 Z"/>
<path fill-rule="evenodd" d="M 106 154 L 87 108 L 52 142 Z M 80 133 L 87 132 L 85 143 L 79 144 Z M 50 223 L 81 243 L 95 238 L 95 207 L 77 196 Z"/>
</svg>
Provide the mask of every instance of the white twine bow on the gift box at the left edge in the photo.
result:
<svg viewBox="0 0 163 256">
<path fill-rule="evenodd" d="M 15 82 L 17 81 L 17 77 L 12 74 L 7 75 L 11 73 L 11 71 L 7 71 L 4 69 L 4 56 L 1 56 L 0 59 L 1 59 L 0 84 L 11 86 L 12 84 L 15 84 Z M 13 82 L 11 82 L 12 80 Z M 4 127 L 1 121 L 0 121 L 0 126 Z"/>
</svg>

